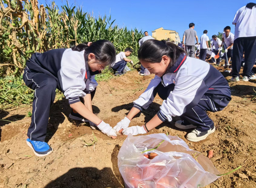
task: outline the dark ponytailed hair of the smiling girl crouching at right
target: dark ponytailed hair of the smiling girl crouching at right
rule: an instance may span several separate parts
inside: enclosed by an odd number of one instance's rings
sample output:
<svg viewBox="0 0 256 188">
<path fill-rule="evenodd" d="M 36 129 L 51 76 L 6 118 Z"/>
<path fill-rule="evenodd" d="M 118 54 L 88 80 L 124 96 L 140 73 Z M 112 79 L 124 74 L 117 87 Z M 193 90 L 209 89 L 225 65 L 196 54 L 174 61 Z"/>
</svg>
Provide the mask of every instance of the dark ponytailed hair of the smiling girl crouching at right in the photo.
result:
<svg viewBox="0 0 256 188">
<path fill-rule="evenodd" d="M 138 58 L 139 60 L 144 60 L 150 63 L 160 63 L 162 61 L 162 56 L 166 55 L 171 59 L 170 64 L 166 69 L 167 72 L 183 53 L 186 54 L 185 50 L 174 43 L 166 42 L 165 40 L 158 41 L 151 39 L 145 41 L 140 46 Z"/>
</svg>

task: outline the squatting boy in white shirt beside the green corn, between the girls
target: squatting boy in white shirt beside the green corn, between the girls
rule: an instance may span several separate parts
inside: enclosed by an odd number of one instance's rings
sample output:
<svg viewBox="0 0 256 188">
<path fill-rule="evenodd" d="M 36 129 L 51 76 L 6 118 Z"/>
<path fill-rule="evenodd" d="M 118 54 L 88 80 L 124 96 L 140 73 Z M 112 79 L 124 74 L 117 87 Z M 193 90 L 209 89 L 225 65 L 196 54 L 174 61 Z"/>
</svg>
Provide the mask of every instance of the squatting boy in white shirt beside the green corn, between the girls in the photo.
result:
<svg viewBox="0 0 256 188">
<path fill-rule="evenodd" d="M 125 52 L 121 51 L 116 55 L 116 63 L 114 66 L 112 66 L 112 69 L 116 71 L 115 76 L 121 76 L 124 74 L 123 71 L 127 65 L 127 62 L 130 62 L 133 65 L 133 61 L 127 58 L 131 53 L 132 49 L 126 48 Z"/>
</svg>

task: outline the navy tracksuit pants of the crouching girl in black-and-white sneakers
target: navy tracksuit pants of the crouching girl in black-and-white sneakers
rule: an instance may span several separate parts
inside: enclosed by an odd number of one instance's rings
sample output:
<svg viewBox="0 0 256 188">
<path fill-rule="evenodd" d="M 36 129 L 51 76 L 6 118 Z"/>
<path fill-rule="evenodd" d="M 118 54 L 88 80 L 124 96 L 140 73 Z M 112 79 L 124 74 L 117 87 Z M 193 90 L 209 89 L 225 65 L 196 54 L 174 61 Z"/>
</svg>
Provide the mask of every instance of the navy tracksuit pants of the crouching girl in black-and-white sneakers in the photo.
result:
<svg viewBox="0 0 256 188">
<path fill-rule="evenodd" d="M 174 87 L 174 84 L 164 87 L 162 83 L 159 83 L 155 89 L 154 95 L 157 93 L 161 99 L 166 100 Z M 185 124 L 197 126 L 197 129 L 201 132 L 208 131 L 214 126 L 214 122 L 209 118 L 206 111 L 221 111 L 228 105 L 230 100 L 231 98 L 222 96 L 221 91 L 216 91 L 214 94 L 205 93 L 197 105 L 191 109 L 187 109 L 180 117 Z"/>
</svg>

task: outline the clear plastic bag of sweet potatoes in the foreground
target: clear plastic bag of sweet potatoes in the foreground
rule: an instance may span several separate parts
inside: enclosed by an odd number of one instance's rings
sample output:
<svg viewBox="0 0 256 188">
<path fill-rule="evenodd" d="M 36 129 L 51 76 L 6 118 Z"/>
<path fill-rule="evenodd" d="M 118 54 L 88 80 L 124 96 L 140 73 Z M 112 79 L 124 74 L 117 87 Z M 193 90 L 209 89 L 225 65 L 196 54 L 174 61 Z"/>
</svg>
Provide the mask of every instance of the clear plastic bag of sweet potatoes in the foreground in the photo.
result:
<svg viewBox="0 0 256 188">
<path fill-rule="evenodd" d="M 141 153 L 147 149 L 157 149 Z M 157 153 L 154 159 L 144 154 Z M 198 188 L 212 183 L 220 172 L 200 152 L 189 149 L 177 136 L 163 133 L 128 135 L 118 153 L 118 168 L 126 188 Z"/>
</svg>

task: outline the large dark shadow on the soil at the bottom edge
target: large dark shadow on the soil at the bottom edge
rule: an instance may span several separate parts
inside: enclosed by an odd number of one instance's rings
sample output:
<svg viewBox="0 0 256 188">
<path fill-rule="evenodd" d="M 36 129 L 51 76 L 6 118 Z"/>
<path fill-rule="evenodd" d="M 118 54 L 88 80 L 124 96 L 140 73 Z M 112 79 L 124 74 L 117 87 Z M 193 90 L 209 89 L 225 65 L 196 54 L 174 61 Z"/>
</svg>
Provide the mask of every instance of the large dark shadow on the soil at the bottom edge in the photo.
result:
<svg viewBox="0 0 256 188">
<path fill-rule="evenodd" d="M 72 168 L 67 173 L 48 183 L 44 188 L 107 188 L 122 187 L 111 168 L 99 170 L 93 167 Z"/>
</svg>

